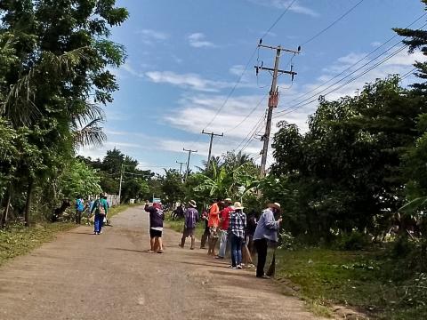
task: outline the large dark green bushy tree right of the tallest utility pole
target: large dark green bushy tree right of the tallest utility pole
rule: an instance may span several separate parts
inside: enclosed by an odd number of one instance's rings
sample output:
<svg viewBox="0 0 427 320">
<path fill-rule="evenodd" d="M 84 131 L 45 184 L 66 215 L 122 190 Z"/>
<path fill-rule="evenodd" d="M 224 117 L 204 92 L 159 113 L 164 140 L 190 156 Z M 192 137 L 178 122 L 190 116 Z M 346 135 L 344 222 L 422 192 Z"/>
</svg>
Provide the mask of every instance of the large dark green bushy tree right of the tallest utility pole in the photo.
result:
<svg viewBox="0 0 427 320">
<path fill-rule="evenodd" d="M 356 97 L 320 99 L 305 134 L 279 124 L 273 177 L 262 190 L 285 204 L 286 228 L 326 241 L 336 232 L 377 236 L 390 228 L 392 212 L 404 201 L 401 159 L 425 111 L 423 98 L 391 76 Z"/>
</svg>

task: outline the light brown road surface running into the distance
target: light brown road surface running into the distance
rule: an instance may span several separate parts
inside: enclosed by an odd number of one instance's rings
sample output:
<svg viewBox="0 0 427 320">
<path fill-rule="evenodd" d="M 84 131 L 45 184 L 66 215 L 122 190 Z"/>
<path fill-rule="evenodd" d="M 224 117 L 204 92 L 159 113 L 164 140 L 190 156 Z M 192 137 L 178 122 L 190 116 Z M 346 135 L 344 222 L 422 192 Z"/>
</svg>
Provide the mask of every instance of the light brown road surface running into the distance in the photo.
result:
<svg viewBox="0 0 427 320">
<path fill-rule="evenodd" d="M 93 236 L 79 227 L 0 268 L 0 319 L 317 319 L 270 280 L 227 268 L 205 250 L 148 253 L 140 208 Z"/>
</svg>

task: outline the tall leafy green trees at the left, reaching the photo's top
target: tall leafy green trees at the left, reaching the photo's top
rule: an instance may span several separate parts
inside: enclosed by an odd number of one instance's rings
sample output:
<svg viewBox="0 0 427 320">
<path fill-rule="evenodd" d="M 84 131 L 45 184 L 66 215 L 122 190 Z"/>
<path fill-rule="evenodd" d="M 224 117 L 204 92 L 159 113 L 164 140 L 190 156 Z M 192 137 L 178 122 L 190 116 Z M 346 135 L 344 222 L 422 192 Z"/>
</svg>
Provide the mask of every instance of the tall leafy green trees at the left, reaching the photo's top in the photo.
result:
<svg viewBox="0 0 427 320">
<path fill-rule="evenodd" d="M 55 205 L 60 172 L 76 169 L 75 148 L 105 140 L 100 104 L 118 88 L 109 68 L 125 60 L 109 40 L 109 28 L 128 15 L 115 3 L 0 1 L 0 206 L 12 197 L 13 217 L 23 210 L 20 196 L 27 222 L 32 197 Z"/>
</svg>

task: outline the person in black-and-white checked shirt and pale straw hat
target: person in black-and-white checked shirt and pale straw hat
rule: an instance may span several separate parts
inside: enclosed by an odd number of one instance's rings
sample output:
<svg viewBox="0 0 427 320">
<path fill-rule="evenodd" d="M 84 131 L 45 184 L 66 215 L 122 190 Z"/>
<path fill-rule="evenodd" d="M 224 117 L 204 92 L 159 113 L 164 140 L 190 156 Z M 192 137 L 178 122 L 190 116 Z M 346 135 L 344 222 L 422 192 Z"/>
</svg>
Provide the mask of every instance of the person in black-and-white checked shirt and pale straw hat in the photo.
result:
<svg viewBox="0 0 427 320">
<path fill-rule="evenodd" d="M 242 244 L 245 239 L 246 214 L 239 202 L 230 213 L 231 268 L 242 268 Z"/>
</svg>

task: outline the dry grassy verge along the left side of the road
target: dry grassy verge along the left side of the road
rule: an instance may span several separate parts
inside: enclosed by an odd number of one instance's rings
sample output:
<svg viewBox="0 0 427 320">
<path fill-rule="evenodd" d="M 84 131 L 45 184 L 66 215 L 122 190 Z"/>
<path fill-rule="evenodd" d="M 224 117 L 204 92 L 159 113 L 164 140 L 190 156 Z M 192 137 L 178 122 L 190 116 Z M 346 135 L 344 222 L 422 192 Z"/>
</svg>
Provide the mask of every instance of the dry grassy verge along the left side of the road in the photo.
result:
<svg viewBox="0 0 427 320">
<path fill-rule="evenodd" d="M 15 224 L 0 229 L 0 266 L 7 260 L 31 252 L 41 244 L 52 241 L 58 232 L 75 226 L 73 223 L 58 222 L 37 224 L 32 228 Z"/>
</svg>

